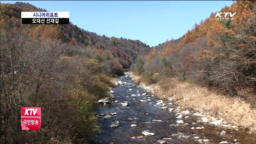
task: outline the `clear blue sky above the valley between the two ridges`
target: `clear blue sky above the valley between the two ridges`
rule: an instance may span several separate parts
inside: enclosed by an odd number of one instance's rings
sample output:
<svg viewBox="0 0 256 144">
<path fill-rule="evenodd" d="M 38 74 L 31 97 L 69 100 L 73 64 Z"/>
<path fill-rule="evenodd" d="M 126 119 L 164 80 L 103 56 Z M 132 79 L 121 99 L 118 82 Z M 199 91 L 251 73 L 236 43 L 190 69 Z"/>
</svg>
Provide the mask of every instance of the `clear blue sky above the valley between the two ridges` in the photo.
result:
<svg viewBox="0 0 256 144">
<path fill-rule="evenodd" d="M 166 39 L 178 39 L 194 24 L 232 0 L 223 1 L 12 1 L 28 2 L 48 11 L 70 12 L 70 21 L 78 27 L 108 37 L 140 40 L 156 46 Z"/>
</svg>

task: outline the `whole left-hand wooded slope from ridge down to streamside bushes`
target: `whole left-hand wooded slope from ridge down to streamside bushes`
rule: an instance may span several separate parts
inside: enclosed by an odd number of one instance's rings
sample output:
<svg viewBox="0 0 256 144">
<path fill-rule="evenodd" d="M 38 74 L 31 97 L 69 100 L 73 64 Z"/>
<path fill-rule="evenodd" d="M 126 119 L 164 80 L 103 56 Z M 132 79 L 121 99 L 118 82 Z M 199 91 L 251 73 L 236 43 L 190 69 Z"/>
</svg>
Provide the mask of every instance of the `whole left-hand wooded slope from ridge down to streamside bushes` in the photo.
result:
<svg viewBox="0 0 256 144">
<path fill-rule="evenodd" d="M 111 97 L 112 78 L 150 47 L 72 24 L 24 25 L 28 3 L 1 4 L 1 143 L 76 143 L 99 132 L 95 101 Z M 41 107 L 40 132 L 22 131 L 20 107 Z M 78 141 L 76 141 L 78 140 Z"/>
</svg>

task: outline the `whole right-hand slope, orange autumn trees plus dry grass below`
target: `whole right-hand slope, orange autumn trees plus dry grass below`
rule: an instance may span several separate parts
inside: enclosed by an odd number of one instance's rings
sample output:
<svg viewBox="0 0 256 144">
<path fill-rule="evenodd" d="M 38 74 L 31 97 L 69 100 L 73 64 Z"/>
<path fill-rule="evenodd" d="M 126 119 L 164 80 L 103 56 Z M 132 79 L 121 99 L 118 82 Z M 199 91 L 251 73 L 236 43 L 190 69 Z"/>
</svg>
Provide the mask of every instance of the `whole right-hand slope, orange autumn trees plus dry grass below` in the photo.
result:
<svg viewBox="0 0 256 144">
<path fill-rule="evenodd" d="M 179 40 L 153 47 L 131 65 L 133 80 L 182 110 L 256 134 L 256 1 L 233 1 L 220 12 L 236 14 L 216 20 L 212 13 Z"/>
</svg>

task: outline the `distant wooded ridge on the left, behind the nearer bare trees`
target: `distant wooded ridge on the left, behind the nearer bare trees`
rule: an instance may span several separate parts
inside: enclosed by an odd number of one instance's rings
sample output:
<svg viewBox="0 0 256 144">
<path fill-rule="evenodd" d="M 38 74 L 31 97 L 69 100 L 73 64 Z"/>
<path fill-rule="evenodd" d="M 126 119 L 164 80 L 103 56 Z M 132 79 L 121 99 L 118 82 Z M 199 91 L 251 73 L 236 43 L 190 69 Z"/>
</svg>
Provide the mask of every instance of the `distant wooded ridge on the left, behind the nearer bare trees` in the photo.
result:
<svg viewBox="0 0 256 144">
<path fill-rule="evenodd" d="M 20 25 L 19 21 L 22 11 L 46 11 L 45 9 L 38 9 L 31 4 L 22 2 L 2 4 L 1 6 L 1 26 L 3 28 L 6 25 L 11 26 L 14 21 L 17 25 Z M 118 58 L 118 62 L 120 62 L 123 68 L 129 68 L 138 55 L 148 54 L 150 51 L 150 47 L 139 40 L 130 40 L 122 37 L 110 38 L 105 35 L 100 36 L 94 32 L 88 32 L 78 28 L 72 22 L 68 25 L 36 25 L 31 26 L 30 29 L 32 31 L 37 30 L 44 38 L 56 35 L 55 37 L 62 40 L 62 42 L 70 42 L 76 46 L 76 52 L 82 52 L 84 49 L 89 48 L 99 55 L 98 60 L 105 53 L 109 53 L 111 57 Z"/>
</svg>

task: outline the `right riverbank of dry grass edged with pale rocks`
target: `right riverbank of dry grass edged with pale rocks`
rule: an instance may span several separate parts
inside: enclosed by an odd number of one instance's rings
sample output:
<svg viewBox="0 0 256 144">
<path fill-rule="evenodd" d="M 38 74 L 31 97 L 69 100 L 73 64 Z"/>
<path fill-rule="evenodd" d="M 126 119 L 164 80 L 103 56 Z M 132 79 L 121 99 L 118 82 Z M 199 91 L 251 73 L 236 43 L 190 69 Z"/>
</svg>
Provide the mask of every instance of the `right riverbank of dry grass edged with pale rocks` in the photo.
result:
<svg viewBox="0 0 256 144">
<path fill-rule="evenodd" d="M 200 122 L 210 123 L 230 129 L 246 129 L 248 134 L 256 134 L 256 110 L 240 98 L 227 98 L 211 92 L 202 86 L 182 82 L 174 78 L 161 80 L 146 86 L 136 73 L 130 72 L 132 80 L 160 99 L 171 99 L 182 110 L 192 110 Z M 236 127 L 237 126 L 237 127 Z"/>
</svg>

